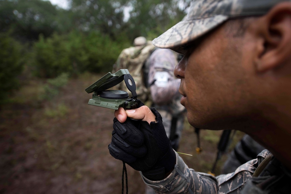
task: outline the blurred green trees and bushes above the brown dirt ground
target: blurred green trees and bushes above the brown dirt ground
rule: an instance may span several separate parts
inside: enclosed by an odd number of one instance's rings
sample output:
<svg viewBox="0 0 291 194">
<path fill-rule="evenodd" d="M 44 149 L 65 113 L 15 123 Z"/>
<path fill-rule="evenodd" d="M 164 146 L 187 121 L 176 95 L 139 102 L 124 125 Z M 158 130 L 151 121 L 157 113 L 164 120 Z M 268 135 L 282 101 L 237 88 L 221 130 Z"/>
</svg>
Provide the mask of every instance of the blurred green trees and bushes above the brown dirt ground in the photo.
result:
<svg viewBox="0 0 291 194">
<path fill-rule="evenodd" d="M 1 100 L 23 71 L 41 78 L 111 71 L 134 38 L 162 34 L 184 17 L 190 0 L 68 2 L 62 9 L 50 1 L 0 0 Z"/>
</svg>

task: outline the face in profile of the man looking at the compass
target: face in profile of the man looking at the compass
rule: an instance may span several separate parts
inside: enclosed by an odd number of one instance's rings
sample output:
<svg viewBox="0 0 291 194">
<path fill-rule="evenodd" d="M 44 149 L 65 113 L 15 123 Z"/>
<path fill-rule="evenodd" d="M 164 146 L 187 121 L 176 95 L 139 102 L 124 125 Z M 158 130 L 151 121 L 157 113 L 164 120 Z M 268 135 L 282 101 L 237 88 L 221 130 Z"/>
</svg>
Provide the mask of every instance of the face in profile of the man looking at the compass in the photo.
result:
<svg viewBox="0 0 291 194">
<path fill-rule="evenodd" d="M 253 72 L 246 37 L 229 37 L 224 26 L 193 45 L 175 68 L 187 119 L 202 129 L 227 129 L 249 110 Z"/>
</svg>

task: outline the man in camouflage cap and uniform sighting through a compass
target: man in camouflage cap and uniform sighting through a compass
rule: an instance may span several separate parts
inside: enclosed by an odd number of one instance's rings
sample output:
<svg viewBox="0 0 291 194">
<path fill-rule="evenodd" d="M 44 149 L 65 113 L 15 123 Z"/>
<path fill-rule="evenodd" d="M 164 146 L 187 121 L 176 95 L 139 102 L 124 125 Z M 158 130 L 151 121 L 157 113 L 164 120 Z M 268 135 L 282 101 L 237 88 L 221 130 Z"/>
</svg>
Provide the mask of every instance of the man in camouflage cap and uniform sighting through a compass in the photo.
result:
<svg viewBox="0 0 291 194">
<path fill-rule="evenodd" d="M 174 73 L 191 125 L 240 130 L 267 150 L 227 175 L 196 172 L 171 148 L 159 113 L 141 106 L 115 112 L 110 154 L 156 193 L 290 193 L 291 2 L 192 1 L 187 19 L 153 43 L 184 55 Z"/>
</svg>

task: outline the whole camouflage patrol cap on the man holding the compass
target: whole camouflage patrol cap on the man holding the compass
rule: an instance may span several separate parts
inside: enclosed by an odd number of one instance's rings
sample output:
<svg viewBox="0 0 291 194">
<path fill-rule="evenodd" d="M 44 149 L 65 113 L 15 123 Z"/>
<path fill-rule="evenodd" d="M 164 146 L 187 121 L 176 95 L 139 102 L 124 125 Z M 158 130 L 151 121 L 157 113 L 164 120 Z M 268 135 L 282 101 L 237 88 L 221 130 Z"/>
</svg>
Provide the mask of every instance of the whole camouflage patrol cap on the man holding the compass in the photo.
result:
<svg viewBox="0 0 291 194">
<path fill-rule="evenodd" d="M 185 45 L 231 18 L 260 16 L 274 5 L 290 0 L 192 0 L 187 16 L 155 38 L 156 47 L 185 54 Z"/>
</svg>

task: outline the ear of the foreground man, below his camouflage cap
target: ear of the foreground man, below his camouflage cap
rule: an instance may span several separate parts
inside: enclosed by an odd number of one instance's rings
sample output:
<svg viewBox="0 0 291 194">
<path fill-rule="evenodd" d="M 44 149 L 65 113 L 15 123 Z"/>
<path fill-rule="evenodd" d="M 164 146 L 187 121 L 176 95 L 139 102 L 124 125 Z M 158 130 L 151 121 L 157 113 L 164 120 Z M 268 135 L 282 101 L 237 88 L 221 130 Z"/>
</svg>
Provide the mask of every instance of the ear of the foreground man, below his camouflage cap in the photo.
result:
<svg viewBox="0 0 291 194">
<path fill-rule="evenodd" d="M 279 67 L 291 57 L 291 3 L 274 6 L 258 24 L 259 52 L 255 59 L 258 72 Z"/>
</svg>

